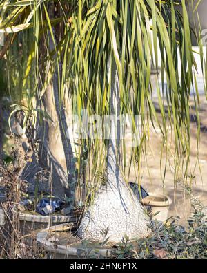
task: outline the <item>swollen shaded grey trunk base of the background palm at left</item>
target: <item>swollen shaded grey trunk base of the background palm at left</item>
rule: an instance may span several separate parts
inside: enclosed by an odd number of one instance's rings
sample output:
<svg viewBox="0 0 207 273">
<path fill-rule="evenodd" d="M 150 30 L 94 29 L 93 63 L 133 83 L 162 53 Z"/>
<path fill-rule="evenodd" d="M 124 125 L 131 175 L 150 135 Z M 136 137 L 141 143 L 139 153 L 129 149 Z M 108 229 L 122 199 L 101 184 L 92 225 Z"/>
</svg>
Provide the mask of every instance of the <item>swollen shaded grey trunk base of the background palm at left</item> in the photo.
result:
<svg viewBox="0 0 207 273">
<path fill-rule="evenodd" d="M 39 109 L 46 111 L 45 99 L 46 95 L 43 95 L 41 99 L 37 101 Z M 48 100 L 48 97 L 47 97 Z M 19 124 L 23 126 L 21 118 L 17 118 Z M 34 131 L 31 133 L 31 131 Z M 26 167 L 21 173 L 21 178 L 28 182 L 28 193 L 34 194 L 51 193 L 59 198 L 64 198 L 68 190 L 68 179 L 65 171 L 53 156 L 50 150 L 50 137 L 48 135 L 49 124 L 46 119 L 42 122 L 39 121 L 39 115 L 37 115 L 37 129 L 26 130 L 26 136 L 28 140 L 33 142 L 34 149 L 35 144 L 38 143 L 37 153 L 34 151 L 32 154 L 32 162 L 28 162 Z M 34 135 L 35 133 L 35 135 Z"/>
</svg>

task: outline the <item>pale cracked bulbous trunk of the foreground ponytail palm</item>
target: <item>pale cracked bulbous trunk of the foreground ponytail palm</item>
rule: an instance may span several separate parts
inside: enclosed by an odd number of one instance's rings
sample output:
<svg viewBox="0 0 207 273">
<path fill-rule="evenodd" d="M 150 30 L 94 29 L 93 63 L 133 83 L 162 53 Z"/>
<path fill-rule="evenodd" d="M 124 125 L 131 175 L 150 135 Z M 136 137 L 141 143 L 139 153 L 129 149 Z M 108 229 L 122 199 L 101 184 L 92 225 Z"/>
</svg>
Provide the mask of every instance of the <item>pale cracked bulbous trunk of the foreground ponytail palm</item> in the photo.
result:
<svg viewBox="0 0 207 273">
<path fill-rule="evenodd" d="M 117 67 L 112 62 L 110 113 L 119 116 L 120 94 Z M 117 128 L 117 130 L 116 130 Z M 124 182 L 120 173 L 120 124 L 115 120 L 110 123 L 108 145 L 107 183 L 101 187 L 88 207 L 78 230 L 81 238 L 102 241 L 109 238 L 112 243 L 119 243 L 124 236 L 130 240 L 148 236 L 148 218 L 139 203 Z"/>
</svg>

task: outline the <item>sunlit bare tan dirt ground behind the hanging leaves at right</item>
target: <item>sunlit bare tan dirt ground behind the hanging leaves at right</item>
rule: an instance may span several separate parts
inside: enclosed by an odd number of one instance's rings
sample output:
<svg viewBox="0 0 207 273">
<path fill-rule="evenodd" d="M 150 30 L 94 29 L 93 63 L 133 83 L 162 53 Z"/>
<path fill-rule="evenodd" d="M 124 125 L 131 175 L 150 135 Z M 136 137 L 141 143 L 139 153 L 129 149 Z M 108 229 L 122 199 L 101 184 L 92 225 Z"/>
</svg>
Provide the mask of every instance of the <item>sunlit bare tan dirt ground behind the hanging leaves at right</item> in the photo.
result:
<svg viewBox="0 0 207 273">
<path fill-rule="evenodd" d="M 155 101 L 156 104 L 156 101 Z M 159 114 L 158 114 L 159 115 Z M 201 143 L 199 152 L 199 165 L 195 167 L 197 162 L 197 126 L 192 115 L 191 122 L 191 154 L 190 154 L 190 169 L 195 179 L 193 179 L 194 198 L 201 201 L 204 206 L 207 206 L 207 103 L 204 97 L 201 97 Z M 156 126 L 156 125 L 155 125 Z M 172 165 L 167 165 L 166 178 L 164 185 L 161 179 L 160 158 L 161 158 L 161 131 L 157 126 L 157 132 L 150 127 L 150 141 L 148 142 L 147 162 L 142 160 L 141 166 L 141 185 L 150 193 L 166 194 L 172 199 L 168 216 L 179 216 L 179 223 L 186 226 L 188 217 L 192 214 L 192 207 L 186 191 L 184 191 L 183 183 L 176 182 L 174 179 L 174 171 Z M 171 147 L 173 151 L 173 144 Z M 128 155 L 129 158 L 129 155 Z M 172 162 L 173 162 L 173 158 Z M 163 156 L 165 162 L 165 156 Z M 195 167 L 195 172 L 193 169 Z M 181 175 L 182 176 L 182 175 Z M 130 172 L 130 180 L 135 181 L 135 173 Z"/>
</svg>

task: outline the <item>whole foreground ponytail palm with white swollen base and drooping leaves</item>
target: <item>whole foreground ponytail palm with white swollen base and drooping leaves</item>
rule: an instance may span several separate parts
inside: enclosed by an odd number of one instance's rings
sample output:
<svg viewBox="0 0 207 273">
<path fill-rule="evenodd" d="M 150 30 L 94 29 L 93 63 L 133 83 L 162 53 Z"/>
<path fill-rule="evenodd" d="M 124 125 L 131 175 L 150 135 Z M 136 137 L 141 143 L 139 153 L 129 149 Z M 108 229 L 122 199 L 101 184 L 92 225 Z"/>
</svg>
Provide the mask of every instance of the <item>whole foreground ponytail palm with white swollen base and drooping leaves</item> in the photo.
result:
<svg viewBox="0 0 207 273">
<path fill-rule="evenodd" d="M 177 5 L 181 5 L 181 13 Z M 186 1 L 79 1 L 79 12 L 74 17 L 75 83 L 82 105 L 87 101 L 89 111 L 99 115 L 132 115 L 135 133 L 135 115 L 141 116 L 141 142 L 132 149 L 138 168 L 149 122 L 158 122 L 151 99 L 150 72 L 152 65 L 158 68 L 160 54 L 162 81 L 164 74 L 167 80 L 167 117 L 174 126 L 175 158 L 184 154 L 188 169 L 189 96 L 195 61 L 185 5 Z M 158 124 L 166 144 L 166 113 L 159 86 L 157 96 L 163 119 Z M 149 232 L 147 217 L 121 171 L 119 131 L 119 122 L 117 132 L 111 122 L 106 145 L 106 185 L 91 201 L 81 223 L 79 236 L 85 239 L 101 241 L 106 231 L 110 241 L 119 242 L 124 234 L 131 239 Z M 99 145 L 97 149 L 100 151 Z"/>
</svg>

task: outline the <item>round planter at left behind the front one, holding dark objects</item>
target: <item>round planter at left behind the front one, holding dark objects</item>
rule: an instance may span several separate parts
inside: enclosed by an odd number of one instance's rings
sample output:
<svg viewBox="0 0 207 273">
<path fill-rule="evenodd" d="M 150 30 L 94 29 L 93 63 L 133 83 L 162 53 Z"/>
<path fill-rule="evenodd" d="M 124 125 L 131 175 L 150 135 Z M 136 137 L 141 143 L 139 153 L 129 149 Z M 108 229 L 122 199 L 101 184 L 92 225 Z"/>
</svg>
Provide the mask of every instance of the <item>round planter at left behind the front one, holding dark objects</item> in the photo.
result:
<svg viewBox="0 0 207 273">
<path fill-rule="evenodd" d="M 21 234 L 31 234 L 38 229 L 44 229 L 61 223 L 77 223 L 79 214 L 63 216 L 61 214 L 41 216 L 37 214 L 21 213 L 19 215 Z"/>
</svg>

